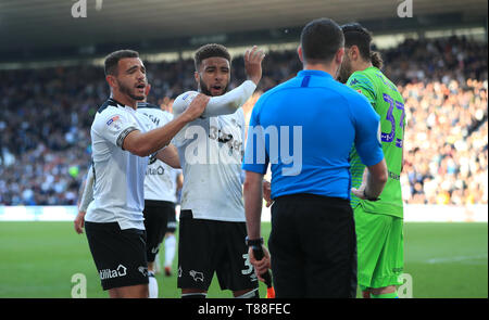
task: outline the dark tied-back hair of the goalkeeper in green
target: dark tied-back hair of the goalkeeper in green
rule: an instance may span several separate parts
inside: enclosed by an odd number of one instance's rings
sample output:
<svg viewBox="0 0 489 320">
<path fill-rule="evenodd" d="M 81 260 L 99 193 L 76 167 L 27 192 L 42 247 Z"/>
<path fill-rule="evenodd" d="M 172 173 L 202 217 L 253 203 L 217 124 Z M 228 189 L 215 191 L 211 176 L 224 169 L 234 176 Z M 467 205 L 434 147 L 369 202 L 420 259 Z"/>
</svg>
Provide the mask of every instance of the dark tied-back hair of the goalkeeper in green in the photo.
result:
<svg viewBox="0 0 489 320">
<path fill-rule="evenodd" d="M 356 46 L 363 60 L 372 61 L 372 64 L 380 68 L 383 60 L 380 53 L 371 51 L 372 34 L 359 23 L 341 26 L 344 35 L 344 47 Z"/>
</svg>

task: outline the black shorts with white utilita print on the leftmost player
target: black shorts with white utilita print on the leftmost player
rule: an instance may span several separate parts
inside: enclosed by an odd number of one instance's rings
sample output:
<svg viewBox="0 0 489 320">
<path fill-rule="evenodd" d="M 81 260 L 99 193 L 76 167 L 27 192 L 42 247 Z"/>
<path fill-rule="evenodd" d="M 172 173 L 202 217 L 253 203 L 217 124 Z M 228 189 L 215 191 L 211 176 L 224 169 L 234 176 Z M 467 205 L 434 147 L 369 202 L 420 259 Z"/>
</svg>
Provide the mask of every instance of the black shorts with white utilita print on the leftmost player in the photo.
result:
<svg viewBox="0 0 489 320">
<path fill-rule="evenodd" d="M 148 283 L 145 230 L 85 221 L 85 232 L 103 290 Z"/>
</svg>

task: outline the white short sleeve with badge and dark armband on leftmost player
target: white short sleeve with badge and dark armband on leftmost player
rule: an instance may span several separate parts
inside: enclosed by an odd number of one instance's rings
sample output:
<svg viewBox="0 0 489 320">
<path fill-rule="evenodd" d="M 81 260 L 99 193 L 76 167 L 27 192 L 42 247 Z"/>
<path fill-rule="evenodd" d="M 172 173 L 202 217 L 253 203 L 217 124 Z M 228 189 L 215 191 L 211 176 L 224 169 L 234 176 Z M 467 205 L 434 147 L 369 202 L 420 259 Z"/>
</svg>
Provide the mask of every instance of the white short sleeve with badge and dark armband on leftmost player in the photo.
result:
<svg viewBox="0 0 489 320">
<path fill-rule="evenodd" d="M 122 149 L 124 139 L 134 130 L 139 130 L 134 119 L 121 110 L 105 110 L 98 114 L 92 129 L 103 139 Z"/>
</svg>

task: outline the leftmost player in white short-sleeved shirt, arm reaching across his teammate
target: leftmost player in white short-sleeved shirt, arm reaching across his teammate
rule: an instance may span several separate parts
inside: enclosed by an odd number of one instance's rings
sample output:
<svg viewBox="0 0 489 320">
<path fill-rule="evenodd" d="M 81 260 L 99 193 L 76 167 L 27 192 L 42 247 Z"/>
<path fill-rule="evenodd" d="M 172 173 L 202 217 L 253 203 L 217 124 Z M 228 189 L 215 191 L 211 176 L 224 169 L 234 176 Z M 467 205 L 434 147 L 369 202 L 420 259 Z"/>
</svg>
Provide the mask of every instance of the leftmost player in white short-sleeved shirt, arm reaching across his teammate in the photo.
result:
<svg viewBox="0 0 489 320">
<path fill-rule="evenodd" d="M 137 112 L 145 99 L 146 68 L 139 54 L 121 50 L 105 59 L 109 99 L 91 126 L 93 201 L 78 215 L 103 290 L 110 297 L 148 297 L 143 225 L 143 181 L 148 156 L 178 167 L 174 146 L 165 148 L 186 124 L 199 117 L 209 97 L 200 94 L 180 116 L 163 127 Z"/>
</svg>

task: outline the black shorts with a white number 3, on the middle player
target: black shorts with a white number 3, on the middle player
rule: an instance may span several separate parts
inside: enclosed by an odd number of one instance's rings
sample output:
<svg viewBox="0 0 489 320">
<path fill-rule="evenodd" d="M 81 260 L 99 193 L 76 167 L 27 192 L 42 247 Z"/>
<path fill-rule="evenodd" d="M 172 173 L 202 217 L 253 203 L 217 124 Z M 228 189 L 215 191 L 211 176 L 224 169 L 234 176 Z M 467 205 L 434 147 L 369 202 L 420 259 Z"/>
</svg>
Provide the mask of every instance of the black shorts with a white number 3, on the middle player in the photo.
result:
<svg viewBox="0 0 489 320">
<path fill-rule="evenodd" d="M 181 210 L 179 228 L 178 287 L 208 291 L 214 271 L 221 290 L 258 287 L 246 222 L 193 219 L 191 210 Z"/>
</svg>

